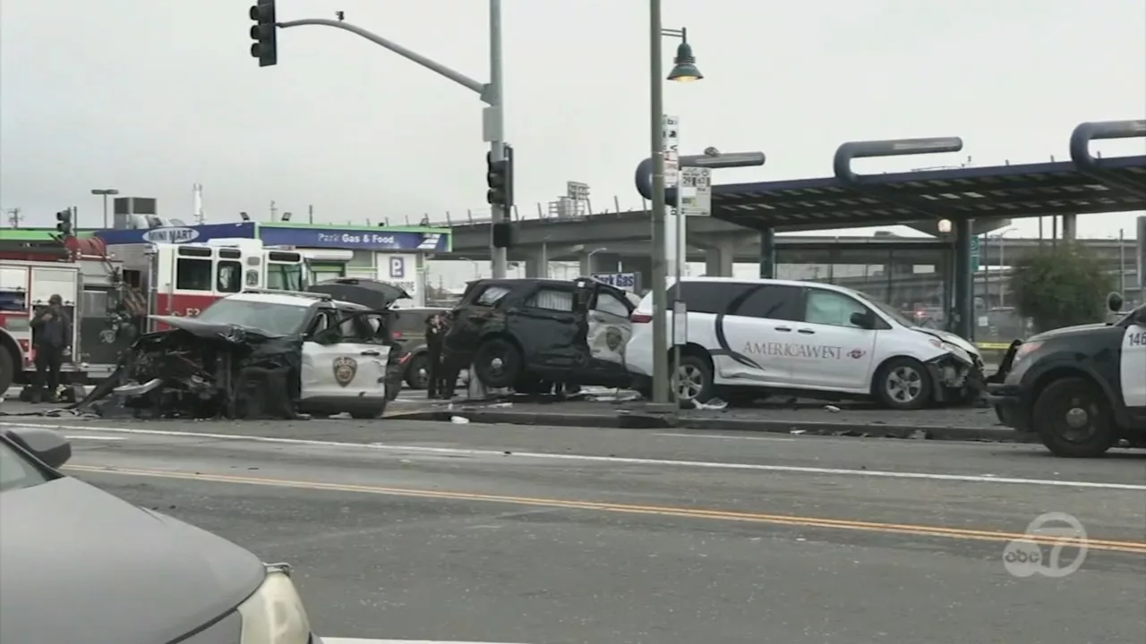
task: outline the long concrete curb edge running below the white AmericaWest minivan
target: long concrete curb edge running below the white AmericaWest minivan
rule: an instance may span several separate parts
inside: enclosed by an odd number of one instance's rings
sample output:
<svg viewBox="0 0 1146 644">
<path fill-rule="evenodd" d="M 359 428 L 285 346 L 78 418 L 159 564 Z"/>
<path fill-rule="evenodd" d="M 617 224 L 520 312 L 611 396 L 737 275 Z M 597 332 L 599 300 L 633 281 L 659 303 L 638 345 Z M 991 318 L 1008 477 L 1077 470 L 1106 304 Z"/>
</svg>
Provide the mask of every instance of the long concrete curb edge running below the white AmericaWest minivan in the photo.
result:
<svg viewBox="0 0 1146 644">
<path fill-rule="evenodd" d="M 558 427 L 613 427 L 627 430 L 708 430 L 774 434 L 848 435 L 862 438 L 898 438 L 986 442 L 1037 442 L 1034 435 L 1020 434 L 1005 427 L 921 426 L 904 424 L 826 423 L 821 421 L 740 421 L 735 418 L 697 418 L 656 414 L 550 414 L 528 411 L 494 411 L 460 409 L 455 411 L 409 411 L 387 416 L 398 421 L 449 422 L 461 416 L 471 423 L 503 425 L 550 425 Z"/>
</svg>

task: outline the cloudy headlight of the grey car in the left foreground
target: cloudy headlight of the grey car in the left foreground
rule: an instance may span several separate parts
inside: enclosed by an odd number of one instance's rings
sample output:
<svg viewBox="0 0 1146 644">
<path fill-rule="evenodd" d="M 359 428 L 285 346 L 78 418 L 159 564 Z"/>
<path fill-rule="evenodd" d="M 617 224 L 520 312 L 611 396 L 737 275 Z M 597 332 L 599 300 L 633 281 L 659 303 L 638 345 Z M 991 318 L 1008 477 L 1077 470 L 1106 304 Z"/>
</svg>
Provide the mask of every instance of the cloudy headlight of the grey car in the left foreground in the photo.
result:
<svg viewBox="0 0 1146 644">
<path fill-rule="evenodd" d="M 243 618 L 241 644 L 307 644 L 311 620 L 285 564 L 267 566 L 262 586 L 238 606 Z"/>
</svg>

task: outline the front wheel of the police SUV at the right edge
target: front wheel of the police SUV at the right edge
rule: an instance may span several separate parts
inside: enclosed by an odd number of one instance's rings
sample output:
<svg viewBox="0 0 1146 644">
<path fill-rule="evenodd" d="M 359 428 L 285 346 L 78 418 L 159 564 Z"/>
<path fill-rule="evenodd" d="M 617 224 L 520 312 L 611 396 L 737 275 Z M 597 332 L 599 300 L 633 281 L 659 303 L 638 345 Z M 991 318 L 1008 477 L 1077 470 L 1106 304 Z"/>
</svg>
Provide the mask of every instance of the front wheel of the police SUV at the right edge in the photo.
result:
<svg viewBox="0 0 1146 644">
<path fill-rule="evenodd" d="M 1085 435 L 1073 439 L 1067 415 L 1083 408 L 1089 423 L 1081 427 Z M 1118 442 L 1118 431 L 1110 414 L 1110 403 L 1102 391 L 1086 378 L 1060 378 L 1043 387 L 1031 409 L 1031 424 L 1039 440 L 1055 456 L 1093 458 L 1106 454 Z"/>
</svg>

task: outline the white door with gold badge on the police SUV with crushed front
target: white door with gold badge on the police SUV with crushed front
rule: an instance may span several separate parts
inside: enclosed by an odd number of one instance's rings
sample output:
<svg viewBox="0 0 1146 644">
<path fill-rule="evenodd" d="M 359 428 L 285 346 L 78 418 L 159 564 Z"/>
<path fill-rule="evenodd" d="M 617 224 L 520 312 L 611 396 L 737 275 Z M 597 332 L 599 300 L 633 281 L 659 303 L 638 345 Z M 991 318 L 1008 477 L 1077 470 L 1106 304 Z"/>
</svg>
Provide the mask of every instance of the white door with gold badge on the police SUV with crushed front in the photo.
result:
<svg viewBox="0 0 1146 644">
<path fill-rule="evenodd" d="M 303 343 L 303 400 L 356 398 L 386 399 L 390 347 L 344 341 Z"/>
</svg>

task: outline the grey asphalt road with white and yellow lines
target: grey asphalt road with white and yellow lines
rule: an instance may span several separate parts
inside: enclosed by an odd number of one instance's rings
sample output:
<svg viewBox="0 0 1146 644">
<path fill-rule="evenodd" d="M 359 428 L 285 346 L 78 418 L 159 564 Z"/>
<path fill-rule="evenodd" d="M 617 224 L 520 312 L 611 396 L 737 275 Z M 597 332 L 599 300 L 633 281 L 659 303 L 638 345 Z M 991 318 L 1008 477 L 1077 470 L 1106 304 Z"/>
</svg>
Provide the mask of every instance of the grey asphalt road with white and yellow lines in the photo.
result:
<svg viewBox="0 0 1146 644">
<path fill-rule="evenodd" d="M 399 421 L 61 431 L 73 476 L 292 563 L 323 636 L 1146 641 L 1140 453 Z M 1085 528 L 1081 567 L 1015 576 L 1033 568 L 1004 549 L 1052 511 Z"/>
</svg>

